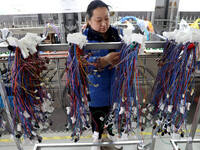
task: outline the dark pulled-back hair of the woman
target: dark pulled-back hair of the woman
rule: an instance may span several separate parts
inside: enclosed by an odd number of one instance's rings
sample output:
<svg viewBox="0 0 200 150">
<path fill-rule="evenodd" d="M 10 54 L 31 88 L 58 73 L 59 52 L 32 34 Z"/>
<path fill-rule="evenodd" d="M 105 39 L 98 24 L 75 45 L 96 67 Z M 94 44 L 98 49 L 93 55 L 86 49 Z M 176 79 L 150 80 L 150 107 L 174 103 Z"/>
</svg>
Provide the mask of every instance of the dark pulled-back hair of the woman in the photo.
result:
<svg viewBox="0 0 200 150">
<path fill-rule="evenodd" d="M 88 17 L 88 19 L 90 19 L 93 15 L 93 10 L 95 10 L 96 8 L 99 7 L 106 7 L 109 11 L 109 5 L 107 5 L 106 3 L 104 3 L 101 0 L 93 0 L 92 2 L 90 2 L 90 4 L 88 5 L 87 11 L 86 11 L 86 15 Z"/>
</svg>

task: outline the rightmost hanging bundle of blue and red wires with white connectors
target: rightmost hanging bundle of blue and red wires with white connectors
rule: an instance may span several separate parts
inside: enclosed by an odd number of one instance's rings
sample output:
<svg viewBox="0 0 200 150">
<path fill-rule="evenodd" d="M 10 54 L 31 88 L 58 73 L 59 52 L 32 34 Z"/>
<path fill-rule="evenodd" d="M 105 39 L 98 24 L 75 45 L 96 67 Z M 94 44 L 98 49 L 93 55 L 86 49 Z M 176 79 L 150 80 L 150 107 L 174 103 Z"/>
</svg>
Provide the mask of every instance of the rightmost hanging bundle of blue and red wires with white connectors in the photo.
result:
<svg viewBox="0 0 200 150">
<path fill-rule="evenodd" d="M 154 129 L 164 135 L 181 133 L 193 99 L 192 73 L 195 70 L 197 43 L 167 41 L 159 61 L 160 69 L 152 91 Z M 151 117 L 150 117 L 151 118 Z"/>
</svg>

